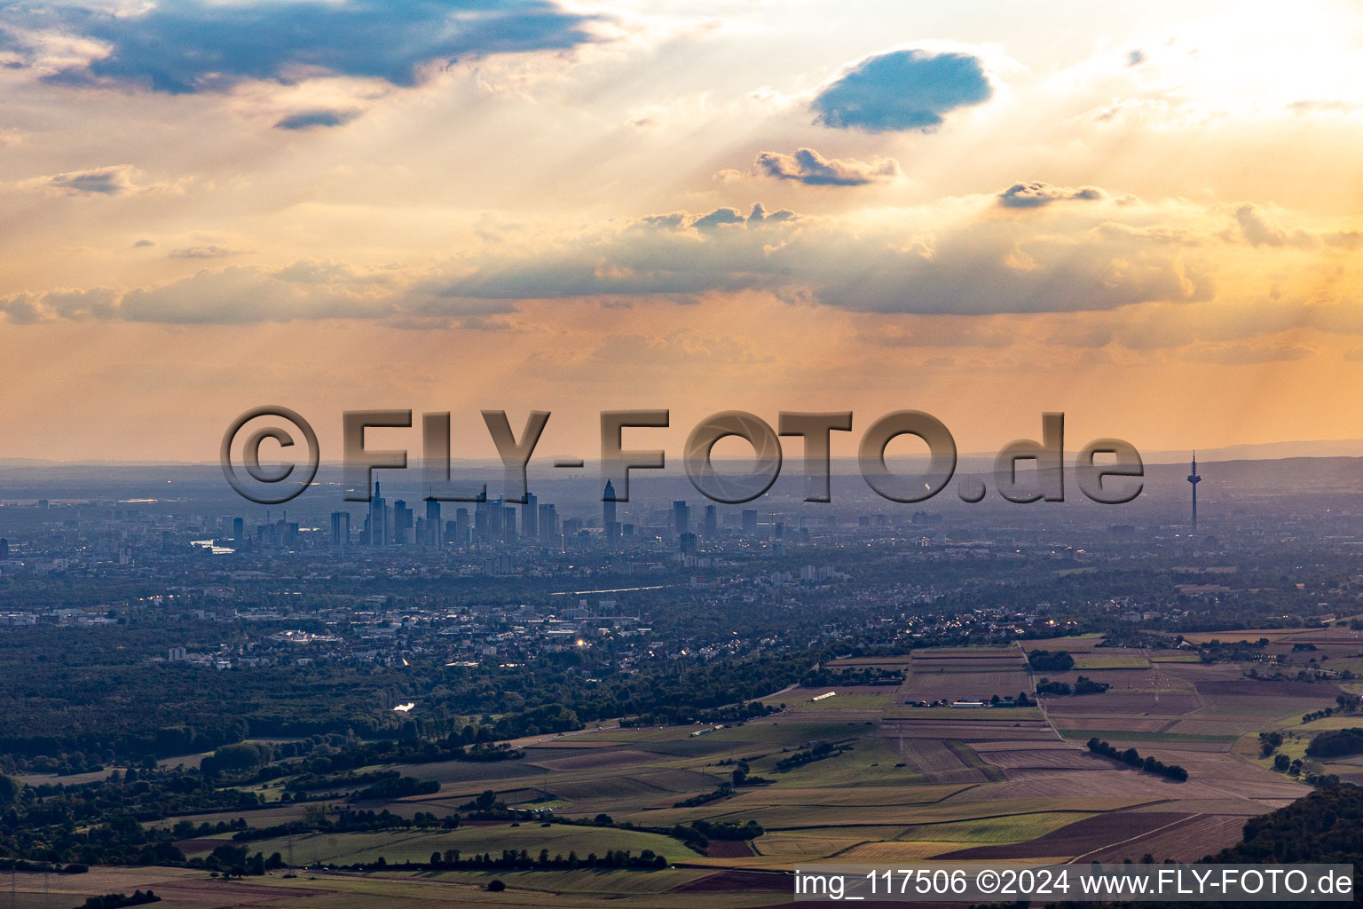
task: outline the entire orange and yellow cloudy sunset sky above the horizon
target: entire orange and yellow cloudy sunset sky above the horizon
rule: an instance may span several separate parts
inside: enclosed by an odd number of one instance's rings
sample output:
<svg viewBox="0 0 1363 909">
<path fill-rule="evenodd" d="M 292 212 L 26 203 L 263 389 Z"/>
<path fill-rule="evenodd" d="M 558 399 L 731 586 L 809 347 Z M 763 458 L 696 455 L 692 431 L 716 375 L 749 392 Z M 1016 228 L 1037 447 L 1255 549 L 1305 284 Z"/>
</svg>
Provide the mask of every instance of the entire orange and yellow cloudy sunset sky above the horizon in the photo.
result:
<svg viewBox="0 0 1363 909">
<path fill-rule="evenodd" d="M 1360 147 L 1358 3 L 0 3 L 0 458 L 1358 439 Z"/>
</svg>

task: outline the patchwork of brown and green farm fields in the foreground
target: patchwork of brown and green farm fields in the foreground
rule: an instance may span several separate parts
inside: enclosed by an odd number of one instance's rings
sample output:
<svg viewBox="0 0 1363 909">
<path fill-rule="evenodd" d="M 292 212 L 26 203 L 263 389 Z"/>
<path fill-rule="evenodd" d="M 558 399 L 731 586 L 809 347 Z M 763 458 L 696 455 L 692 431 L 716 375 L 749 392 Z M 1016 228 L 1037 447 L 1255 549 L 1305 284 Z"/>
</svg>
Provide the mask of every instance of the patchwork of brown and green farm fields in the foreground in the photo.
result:
<svg viewBox="0 0 1363 909">
<path fill-rule="evenodd" d="M 1047 649 L 1036 643 L 1028 647 Z M 1144 651 L 1099 643 L 1099 638 L 1052 642 L 1052 650 L 1071 649 L 1077 666 L 1050 677 L 1073 680 L 1085 665 L 1082 675 L 1112 685 L 1104 694 L 1045 696 L 1040 707 L 912 706 L 1032 692 L 1040 676 L 1028 671 L 1021 647 L 920 650 L 883 661 L 905 672 L 898 685 L 792 688 L 770 699 L 784 710 L 743 724 L 612 726 L 527 739 L 518 760 L 402 766 L 397 769 L 403 774 L 433 780 L 440 790 L 360 805 L 439 818 L 465 814 L 462 805 L 492 790 L 512 808 L 549 810 L 570 819 L 605 814 L 615 825 L 632 825 L 630 830 L 541 826 L 526 814 L 518 826 L 480 822 L 453 831 L 303 834 L 293 837 L 293 852 L 308 864 L 348 865 L 382 856 L 394 865 L 424 863 L 432 852 L 450 849 L 492 856 L 503 849 L 548 850 L 551 857 L 571 852 L 579 859 L 649 849 L 686 867 L 506 874 L 507 894 L 521 895 L 500 905 L 522 905 L 517 899 L 532 905 L 545 893 L 557 894 L 553 899 L 563 905 L 596 905 L 615 893 L 620 899 L 613 904 L 650 908 L 771 905 L 784 890 L 762 890 L 778 880 L 765 874 L 829 859 L 1122 861 L 1150 852 L 1157 860 L 1189 860 L 1238 839 L 1246 818 L 1308 790 L 1258 756 L 1259 730 L 1288 732 L 1283 751 L 1296 756 L 1317 730 L 1363 725 L 1363 718 L 1344 717 L 1300 724 L 1306 709 L 1333 700 L 1338 691 L 1333 685 L 1253 681 L 1236 665 L 1161 661 L 1159 653 L 1149 660 Z M 837 694 L 810 700 L 826 691 Z M 1174 782 L 1092 755 L 1084 747 L 1090 736 L 1183 766 L 1189 780 Z M 740 762 L 747 785 L 728 788 Z M 1332 770 L 1363 778 L 1363 762 Z M 284 803 L 194 820 L 244 816 L 267 826 L 298 818 L 303 810 Z M 762 833 L 751 841 L 713 839 L 703 854 L 668 835 L 676 825 L 698 822 L 754 822 Z M 194 839 L 185 849 L 204 854 L 228 835 Z M 289 845 L 279 837 L 249 849 L 285 853 Z M 465 872 L 416 876 L 393 868 L 383 875 L 318 875 L 308 883 L 324 894 L 298 898 L 296 905 L 358 906 L 379 891 L 408 894 L 394 897 L 398 905 L 403 898 L 444 899 L 451 893 L 461 901 L 474 894 L 477 905 L 484 898 L 477 882 L 487 879 Z M 296 880 L 288 883 L 300 889 Z M 259 902 L 274 899 L 262 895 Z M 194 898 L 184 905 L 207 909 L 209 902 Z"/>
</svg>

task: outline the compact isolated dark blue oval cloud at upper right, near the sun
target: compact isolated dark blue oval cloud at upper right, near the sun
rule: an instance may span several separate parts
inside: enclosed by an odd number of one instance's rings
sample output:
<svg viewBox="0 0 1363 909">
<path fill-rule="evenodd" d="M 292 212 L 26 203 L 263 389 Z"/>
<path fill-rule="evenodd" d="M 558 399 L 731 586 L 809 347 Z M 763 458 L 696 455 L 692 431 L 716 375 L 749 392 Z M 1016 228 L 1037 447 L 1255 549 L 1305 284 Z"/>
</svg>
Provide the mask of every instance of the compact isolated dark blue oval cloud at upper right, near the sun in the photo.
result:
<svg viewBox="0 0 1363 909">
<path fill-rule="evenodd" d="M 984 104 L 994 86 L 979 57 L 962 52 L 891 50 L 866 57 L 823 86 L 814 121 L 838 129 L 931 131 L 943 114 Z"/>
</svg>

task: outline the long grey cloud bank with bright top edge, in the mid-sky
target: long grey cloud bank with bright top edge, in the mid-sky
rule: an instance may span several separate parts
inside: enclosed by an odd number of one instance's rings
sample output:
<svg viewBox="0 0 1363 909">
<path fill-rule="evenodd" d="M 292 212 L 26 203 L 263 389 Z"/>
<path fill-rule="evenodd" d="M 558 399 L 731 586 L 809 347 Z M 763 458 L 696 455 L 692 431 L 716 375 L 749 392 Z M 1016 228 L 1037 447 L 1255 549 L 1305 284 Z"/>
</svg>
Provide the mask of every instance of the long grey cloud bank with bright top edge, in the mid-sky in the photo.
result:
<svg viewBox="0 0 1363 909">
<path fill-rule="evenodd" d="M 934 213 L 849 224 L 755 206 L 650 215 L 557 248 L 484 262 L 439 293 L 461 300 L 702 297 L 766 290 L 860 312 L 943 315 L 1101 311 L 1213 293 L 1178 244 L 1075 224 Z M 1094 213 L 1111 213 L 1103 204 Z M 919 222 L 915 225 L 915 219 Z M 1051 218 L 1054 221 L 1054 218 Z"/>
</svg>

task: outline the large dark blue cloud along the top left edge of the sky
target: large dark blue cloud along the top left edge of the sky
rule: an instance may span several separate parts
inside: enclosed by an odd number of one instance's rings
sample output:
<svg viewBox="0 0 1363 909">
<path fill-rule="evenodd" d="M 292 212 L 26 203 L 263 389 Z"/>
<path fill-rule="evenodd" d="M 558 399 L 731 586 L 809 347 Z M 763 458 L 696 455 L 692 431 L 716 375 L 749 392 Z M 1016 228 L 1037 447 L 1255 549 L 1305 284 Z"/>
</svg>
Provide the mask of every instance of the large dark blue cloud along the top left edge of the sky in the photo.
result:
<svg viewBox="0 0 1363 909">
<path fill-rule="evenodd" d="M 594 40 L 596 16 L 549 0 L 174 0 L 120 11 L 71 3 L 0 5 L 0 49 L 34 65 L 25 35 L 99 42 L 106 56 L 45 76 L 187 94 L 244 80 L 346 75 L 412 86 L 423 67 L 465 57 L 556 50 Z M 320 124 L 318 124 L 320 125 Z"/>
</svg>

